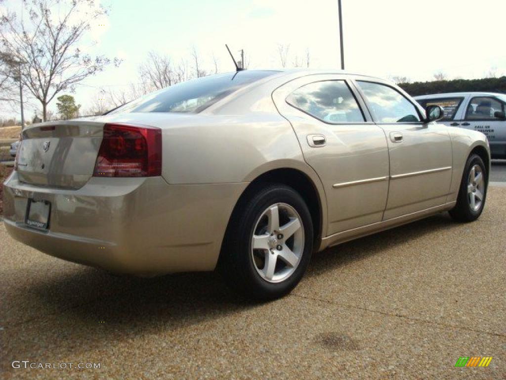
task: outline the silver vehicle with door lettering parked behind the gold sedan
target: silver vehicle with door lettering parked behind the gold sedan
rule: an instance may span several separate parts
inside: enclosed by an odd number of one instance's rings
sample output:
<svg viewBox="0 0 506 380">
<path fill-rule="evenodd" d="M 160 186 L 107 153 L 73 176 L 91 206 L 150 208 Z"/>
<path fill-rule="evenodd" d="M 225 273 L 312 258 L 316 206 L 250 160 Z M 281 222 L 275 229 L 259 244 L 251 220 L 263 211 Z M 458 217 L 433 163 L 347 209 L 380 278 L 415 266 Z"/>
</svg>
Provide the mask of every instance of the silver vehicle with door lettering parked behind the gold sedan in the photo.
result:
<svg viewBox="0 0 506 380">
<path fill-rule="evenodd" d="M 506 95 L 491 92 L 456 92 L 415 96 L 421 106 L 444 108 L 440 123 L 485 134 L 492 158 L 506 159 Z"/>
</svg>

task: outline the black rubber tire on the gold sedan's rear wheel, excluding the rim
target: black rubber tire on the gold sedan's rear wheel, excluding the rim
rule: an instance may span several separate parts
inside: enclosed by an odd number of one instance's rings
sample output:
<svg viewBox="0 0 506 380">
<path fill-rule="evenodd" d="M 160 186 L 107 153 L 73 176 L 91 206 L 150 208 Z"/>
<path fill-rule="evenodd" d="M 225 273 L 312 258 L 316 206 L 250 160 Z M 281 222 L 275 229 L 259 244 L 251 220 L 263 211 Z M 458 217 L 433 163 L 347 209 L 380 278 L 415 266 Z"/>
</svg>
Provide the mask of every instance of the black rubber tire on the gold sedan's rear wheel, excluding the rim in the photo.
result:
<svg viewBox="0 0 506 380">
<path fill-rule="evenodd" d="M 298 236 L 304 236 L 304 244 L 299 245 L 299 247 L 303 247 L 302 256 L 299 256 L 298 264 L 293 267 L 291 275 L 280 282 L 272 283 L 263 278 L 257 270 L 258 264 L 256 266 L 251 242 L 254 230 L 258 228 L 257 222 L 260 223 L 259 220 L 262 220 L 264 211 L 275 204 L 280 204 L 280 207 L 282 207 L 281 204 L 289 205 L 297 211 L 303 230 L 302 234 Z M 281 214 L 280 209 L 279 225 L 282 225 Z M 290 243 L 287 241 L 286 244 Z M 258 300 L 275 299 L 284 296 L 297 286 L 308 267 L 312 249 L 313 223 L 309 209 L 302 197 L 293 188 L 286 185 L 267 184 L 250 192 L 249 196 L 240 202 L 237 209 L 234 210 L 225 235 L 219 269 L 226 283 L 234 291 Z M 270 252 L 276 254 L 276 260 L 279 261 L 278 252 L 275 250 L 276 248 L 264 251 L 265 260 L 268 259 Z M 258 254 L 258 251 L 256 253 Z M 279 262 L 281 266 L 287 265 L 284 261 Z M 267 265 L 266 261 L 264 264 Z M 278 268 L 277 265 L 276 263 L 275 268 Z M 288 270 L 291 269 L 288 268 Z"/>
</svg>

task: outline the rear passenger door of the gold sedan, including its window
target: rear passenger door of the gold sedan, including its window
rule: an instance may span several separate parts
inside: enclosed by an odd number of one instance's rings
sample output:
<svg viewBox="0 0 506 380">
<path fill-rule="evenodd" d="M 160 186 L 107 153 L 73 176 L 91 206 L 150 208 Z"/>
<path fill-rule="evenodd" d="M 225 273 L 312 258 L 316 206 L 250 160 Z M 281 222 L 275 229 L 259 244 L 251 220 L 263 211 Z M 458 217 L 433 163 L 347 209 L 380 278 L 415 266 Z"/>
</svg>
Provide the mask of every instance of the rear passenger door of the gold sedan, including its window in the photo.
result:
<svg viewBox="0 0 506 380">
<path fill-rule="evenodd" d="M 328 235 L 381 221 L 389 175 L 385 133 L 346 77 L 307 75 L 274 91 L 273 99 L 321 178 Z"/>
</svg>

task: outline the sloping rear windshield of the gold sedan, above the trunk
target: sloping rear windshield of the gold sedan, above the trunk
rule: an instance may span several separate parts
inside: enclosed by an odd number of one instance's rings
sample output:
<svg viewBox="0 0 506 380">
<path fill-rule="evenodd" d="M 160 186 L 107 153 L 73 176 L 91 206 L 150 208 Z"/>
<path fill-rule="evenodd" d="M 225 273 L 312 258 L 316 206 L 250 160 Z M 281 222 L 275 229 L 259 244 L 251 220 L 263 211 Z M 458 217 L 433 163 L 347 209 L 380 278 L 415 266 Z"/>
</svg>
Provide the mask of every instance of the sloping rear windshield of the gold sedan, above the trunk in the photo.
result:
<svg viewBox="0 0 506 380">
<path fill-rule="evenodd" d="M 244 70 L 197 78 L 145 95 L 110 111 L 109 114 L 129 112 L 198 113 L 239 88 L 276 72 Z"/>
</svg>

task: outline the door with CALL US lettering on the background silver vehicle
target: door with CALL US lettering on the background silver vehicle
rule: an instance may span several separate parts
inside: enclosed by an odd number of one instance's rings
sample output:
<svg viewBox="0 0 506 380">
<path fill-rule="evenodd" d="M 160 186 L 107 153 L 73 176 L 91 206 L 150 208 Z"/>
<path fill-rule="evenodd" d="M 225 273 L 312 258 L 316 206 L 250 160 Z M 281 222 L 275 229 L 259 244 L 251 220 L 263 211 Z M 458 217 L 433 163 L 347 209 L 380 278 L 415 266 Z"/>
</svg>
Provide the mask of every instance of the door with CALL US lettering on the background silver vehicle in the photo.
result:
<svg viewBox="0 0 506 380">
<path fill-rule="evenodd" d="M 492 156 L 502 158 L 506 157 L 506 121 L 496 118 L 495 112 L 506 112 L 506 97 L 471 96 L 459 123 L 462 128 L 484 133 Z"/>
</svg>

